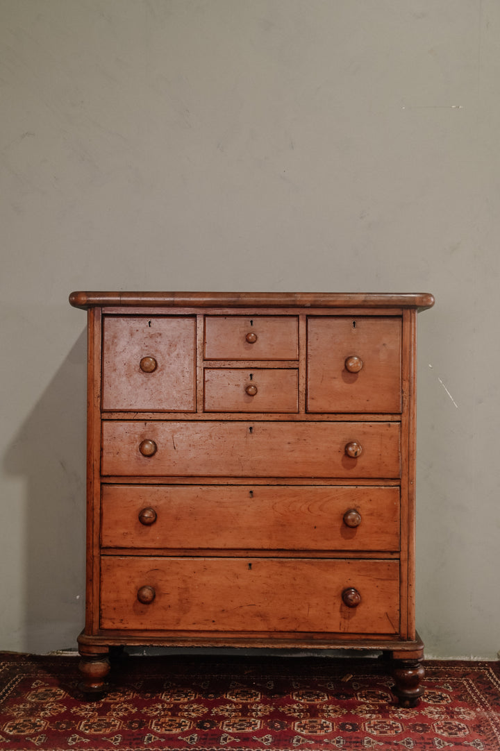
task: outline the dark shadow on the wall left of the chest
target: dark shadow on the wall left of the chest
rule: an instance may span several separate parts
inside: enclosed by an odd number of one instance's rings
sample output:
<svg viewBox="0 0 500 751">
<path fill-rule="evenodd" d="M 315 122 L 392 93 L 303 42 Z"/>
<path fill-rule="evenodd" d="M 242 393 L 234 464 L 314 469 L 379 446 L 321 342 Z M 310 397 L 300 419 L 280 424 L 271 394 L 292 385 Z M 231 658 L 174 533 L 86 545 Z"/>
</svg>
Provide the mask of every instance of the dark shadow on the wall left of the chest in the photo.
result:
<svg viewBox="0 0 500 751">
<path fill-rule="evenodd" d="M 85 603 L 86 332 L 14 438 L 5 470 L 26 480 L 23 649 L 76 647 Z"/>
</svg>

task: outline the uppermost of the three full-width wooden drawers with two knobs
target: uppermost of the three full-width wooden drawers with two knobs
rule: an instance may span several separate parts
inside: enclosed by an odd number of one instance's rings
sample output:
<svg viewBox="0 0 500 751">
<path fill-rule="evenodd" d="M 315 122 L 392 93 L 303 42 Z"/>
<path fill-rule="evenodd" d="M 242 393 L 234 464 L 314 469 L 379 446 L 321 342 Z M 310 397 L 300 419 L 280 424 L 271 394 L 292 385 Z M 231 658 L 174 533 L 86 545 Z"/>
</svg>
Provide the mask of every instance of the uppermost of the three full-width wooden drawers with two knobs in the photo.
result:
<svg viewBox="0 0 500 751">
<path fill-rule="evenodd" d="M 397 478 L 399 431 L 389 422 L 103 421 L 102 474 Z"/>
</svg>

